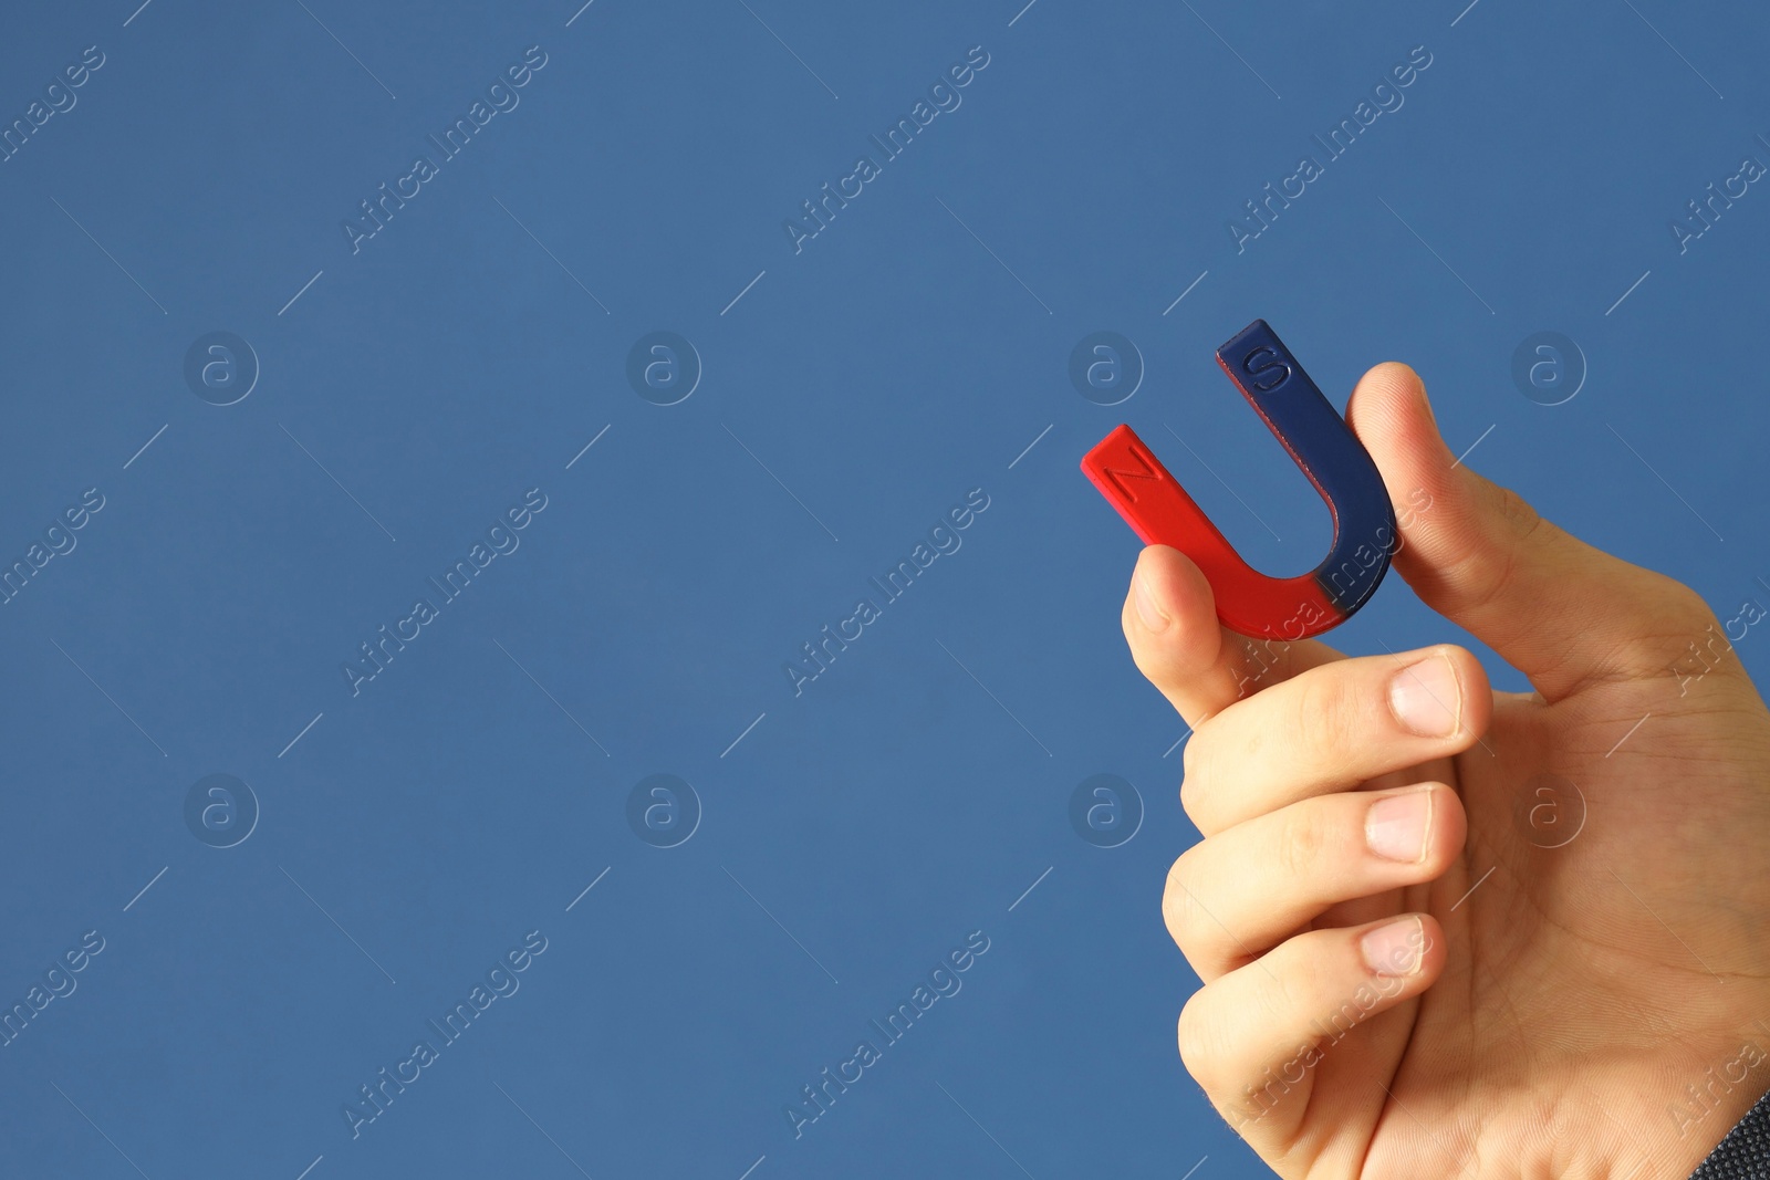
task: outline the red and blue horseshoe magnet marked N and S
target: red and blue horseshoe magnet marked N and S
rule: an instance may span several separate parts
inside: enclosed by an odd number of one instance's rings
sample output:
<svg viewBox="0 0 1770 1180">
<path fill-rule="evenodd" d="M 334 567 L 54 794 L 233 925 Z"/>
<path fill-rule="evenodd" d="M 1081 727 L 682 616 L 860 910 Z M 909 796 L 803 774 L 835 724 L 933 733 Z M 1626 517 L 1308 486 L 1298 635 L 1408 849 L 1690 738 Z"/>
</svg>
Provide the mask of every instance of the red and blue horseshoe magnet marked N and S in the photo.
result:
<svg viewBox="0 0 1770 1180">
<path fill-rule="evenodd" d="M 1172 545 L 1204 570 L 1225 626 L 1264 639 L 1319 635 L 1352 617 L 1389 570 L 1398 536 L 1388 488 L 1370 453 L 1266 320 L 1244 327 L 1216 356 L 1328 502 L 1333 545 L 1313 571 L 1274 579 L 1243 561 L 1129 426 L 1089 451 L 1081 471 L 1145 545 Z"/>
</svg>

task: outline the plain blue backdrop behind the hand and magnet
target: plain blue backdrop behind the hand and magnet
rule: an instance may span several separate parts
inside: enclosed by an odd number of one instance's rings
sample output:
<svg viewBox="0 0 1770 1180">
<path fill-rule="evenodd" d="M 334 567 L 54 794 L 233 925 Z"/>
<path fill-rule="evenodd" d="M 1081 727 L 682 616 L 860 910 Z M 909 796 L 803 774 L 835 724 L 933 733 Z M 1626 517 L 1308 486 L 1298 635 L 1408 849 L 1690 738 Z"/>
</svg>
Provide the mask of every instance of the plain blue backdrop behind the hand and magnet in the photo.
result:
<svg viewBox="0 0 1770 1180">
<path fill-rule="evenodd" d="M 0 1047 L 5 1175 L 1262 1175 L 1174 1049 L 1186 731 L 1119 632 L 1138 545 L 1076 469 L 1127 421 L 1258 568 L 1312 568 L 1328 515 L 1212 359 L 1255 317 L 1336 405 L 1405 359 L 1545 515 L 1722 617 L 1770 601 L 1770 196 L 1669 232 L 1770 161 L 1743 4 L 4 23 L 0 120 L 104 64 L 0 165 L 0 557 L 104 508 L 0 607 L 0 1005 L 106 943 Z M 342 219 L 536 44 L 520 104 L 352 253 Z M 795 253 L 782 219 L 972 46 L 963 104 Z M 1414 46 L 1404 106 L 1237 251 Z M 182 377 L 211 331 L 262 366 L 235 405 Z M 704 368 L 676 405 L 627 380 L 653 331 Z M 1067 377 L 1094 331 L 1142 352 L 1122 405 Z M 1512 377 L 1538 331 L 1589 364 L 1561 405 Z M 352 695 L 342 662 L 535 487 L 520 548 Z M 963 547 L 795 697 L 784 662 L 975 487 Z M 1441 639 L 1400 579 L 1335 633 Z M 234 847 L 186 826 L 211 773 L 260 807 Z M 699 800 L 676 847 L 627 819 L 653 773 Z M 1096 773 L 1142 793 L 1119 847 L 1069 823 Z M 358 1086 L 536 929 L 520 991 L 352 1138 Z M 972 931 L 963 989 L 795 1138 L 800 1088 Z"/>
</svg>

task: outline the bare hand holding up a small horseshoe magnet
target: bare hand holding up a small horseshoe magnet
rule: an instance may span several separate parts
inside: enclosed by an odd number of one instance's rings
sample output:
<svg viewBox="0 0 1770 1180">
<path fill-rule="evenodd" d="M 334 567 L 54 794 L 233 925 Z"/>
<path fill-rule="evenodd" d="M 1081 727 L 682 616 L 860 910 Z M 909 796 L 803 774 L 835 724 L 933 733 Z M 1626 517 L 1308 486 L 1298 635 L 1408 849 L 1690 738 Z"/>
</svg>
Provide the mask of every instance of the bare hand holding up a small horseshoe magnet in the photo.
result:
<svg viewBox="0 0 1770 1180">
<path fill-rule="evenodd" d="M 1765 614 L 1453 464 L 1405 364 L 1347 418 L 1397 570 L 1536 692 L 1251 642 L 1143 550 L 1124 633 L 1204 833 L 1163 897 L 1181 1058 L 1281 1176 L 1683 1180 L 1770 1090 L 1770 713 L 1728 639 Z"/>
</svg>

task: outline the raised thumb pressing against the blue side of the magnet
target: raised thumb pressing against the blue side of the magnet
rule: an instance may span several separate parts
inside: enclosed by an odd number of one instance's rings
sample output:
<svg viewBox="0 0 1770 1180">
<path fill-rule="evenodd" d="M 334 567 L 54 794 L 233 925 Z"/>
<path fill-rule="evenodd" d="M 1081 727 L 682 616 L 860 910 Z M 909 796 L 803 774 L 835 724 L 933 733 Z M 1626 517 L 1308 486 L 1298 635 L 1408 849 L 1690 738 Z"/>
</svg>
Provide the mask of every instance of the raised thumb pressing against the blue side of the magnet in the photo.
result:
<svg viewBox="0 0 1770 1180">
<path fill-rule="evenodd" d="M 1712 624 L 1682 582 L 1586 545 L 1458 464 L 1409 366 L 1365 373 L 1347 421 L 1397 506 L 1395 568 L 1547 701 L 1595 681 L 1671 676 Z"/>
</svg>

